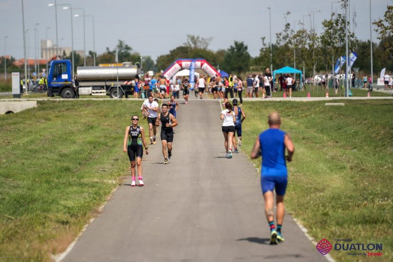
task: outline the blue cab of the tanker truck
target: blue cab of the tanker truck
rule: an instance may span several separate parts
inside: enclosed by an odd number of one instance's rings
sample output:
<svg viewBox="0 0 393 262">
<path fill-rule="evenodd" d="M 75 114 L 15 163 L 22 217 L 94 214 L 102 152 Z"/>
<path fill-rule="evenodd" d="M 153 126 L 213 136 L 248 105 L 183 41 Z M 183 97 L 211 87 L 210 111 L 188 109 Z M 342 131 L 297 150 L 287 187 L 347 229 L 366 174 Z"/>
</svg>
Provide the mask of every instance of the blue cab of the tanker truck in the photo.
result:
<svg viewBox="0 0 393 262">
<path fill-rule="evenodd" d="M 48 96 L 75 98 L 77 95 L 72 79 L 70 60 L 52 60 L 48 70 Z"/>
</svg>

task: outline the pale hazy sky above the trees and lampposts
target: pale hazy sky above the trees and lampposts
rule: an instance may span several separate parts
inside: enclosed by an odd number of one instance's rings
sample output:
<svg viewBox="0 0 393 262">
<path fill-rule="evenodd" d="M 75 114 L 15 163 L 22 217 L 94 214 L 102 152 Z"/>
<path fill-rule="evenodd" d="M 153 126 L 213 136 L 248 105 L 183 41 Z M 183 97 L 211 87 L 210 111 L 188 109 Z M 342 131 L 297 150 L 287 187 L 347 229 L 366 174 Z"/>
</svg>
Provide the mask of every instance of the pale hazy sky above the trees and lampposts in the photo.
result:
<svg viewBox="0 0 393 262">
<path fill-rule="evenodd" d="M 334 1 L 336 2 L 336 1 Z M 54 0 L 24 0 L 25 29 L 29 29 L 30 57 L 34 56 L 34 25 L 39 23 L 39 39 L 56 42 L 55 11 L 48 4 Z M 325 0 L 57 0 L 57 4 L 71 4 L 73 8 L 83 8 L 86 15 L 95 20 L 95 46 L 98 54 L 106 47 L 114 49 L 118 39 L 124 40 L 134 51 L 142 55 L 157 56 L 167 54 L 187 39 L 187 34 L 213 37 L 211 50 L 227 49 L 233 41 L 244 41 L 251 56 L 257 56 L 261 48 L 260 38 L 269 42 L 269 10 L 272 15 L 272 41 L 275 33 L 285 25 L 284 13 L 290 11 L 287 21 L 293 27 L 295 20 L 315 12 L 317 32 L 322 32 L 321 21 L 330 16 L 332 1 Z M 372 19 L 383 17 L 386 5 L 391 0 L 372 0 Z M 351 0 L 351 16 L 356 10 L 356 35 L 359 39 L 369 39 L 369 0 Z M 339 3 L 333 3 L 333 10 L 342 12 Z M 74 14 L 82 14 L 73 10 Z M 74 49 L 83 50 L 83 18 L 74 17 Z M 305 16 L 305 27 L 310 28 L 310 18 Z M 57 8 L 58 41 L 63 47 L 71 47 L 70 11 Z M 312 19 L 311 19 L 312 20 Z M 351 18 L 352 22 L 352 18 Z M 0 0 L 0 54 L 15 58 L 23 57 L 23 29 L 21 0 Z M 85 19 L 86 52 L 93 50 L 93 24 L 90 17 Z M 300 27 L 296 22 L 296 27 Z M 46 30 L 47 27 L 50 29 Z M 377 35 L 373 32 L 373 41 Z"/>
</svg>

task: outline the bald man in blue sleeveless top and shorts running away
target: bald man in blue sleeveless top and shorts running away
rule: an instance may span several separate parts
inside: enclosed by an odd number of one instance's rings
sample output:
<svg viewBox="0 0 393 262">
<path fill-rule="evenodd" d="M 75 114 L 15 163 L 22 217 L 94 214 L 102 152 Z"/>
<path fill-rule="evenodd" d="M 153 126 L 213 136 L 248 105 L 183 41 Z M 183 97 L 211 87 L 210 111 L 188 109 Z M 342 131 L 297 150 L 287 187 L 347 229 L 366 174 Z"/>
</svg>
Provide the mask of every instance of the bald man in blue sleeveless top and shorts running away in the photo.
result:
<svg viewBox="0 0 393 262">
<path fill-rule="evenodd" d="M 288 172 L 285 158 L 287 148 L 288 162 L 292 161 L 295 147 L 291 137 L 280 128 L 281 117 L 273 112 L 269 115 L 270 128 L 261 133 L 251 151 L 251 159 L 262 157 L 260 185 L 265 199 L 265 213 L 270 227 L 270 245 L 276 245 L 285 239 L 281 235 L 282 221 L 285 214 L 284 195 L 288 183 Z M 274 194 L 276 191 L 277 230 L 274 226 Z"/>
</svg>

